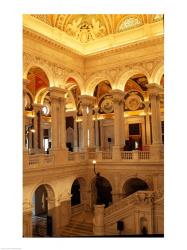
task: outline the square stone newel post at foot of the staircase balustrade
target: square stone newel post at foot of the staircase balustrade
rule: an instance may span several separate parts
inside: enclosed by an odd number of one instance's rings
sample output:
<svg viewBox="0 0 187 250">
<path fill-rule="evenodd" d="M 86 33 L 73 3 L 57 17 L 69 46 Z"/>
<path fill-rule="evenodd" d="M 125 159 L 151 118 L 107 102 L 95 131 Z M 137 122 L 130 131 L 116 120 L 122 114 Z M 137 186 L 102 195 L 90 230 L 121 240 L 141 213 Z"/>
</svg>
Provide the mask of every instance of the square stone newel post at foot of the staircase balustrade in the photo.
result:
<svg viewBox="0 0 187 250">
<path fill-rule="evenodd" d="M 104 207 L 105 205 L 94 206 L 93 233 L 94 235 L 104 235 Z"/>
</svg>

